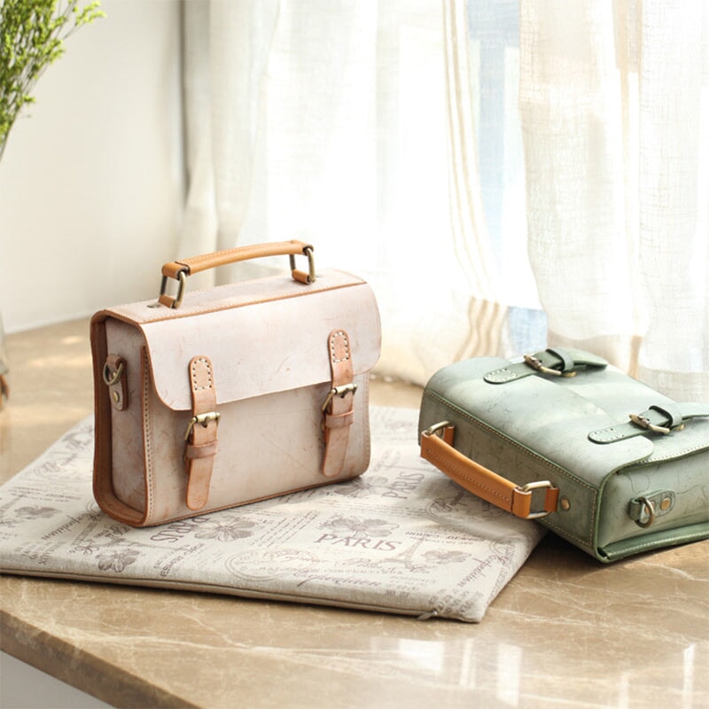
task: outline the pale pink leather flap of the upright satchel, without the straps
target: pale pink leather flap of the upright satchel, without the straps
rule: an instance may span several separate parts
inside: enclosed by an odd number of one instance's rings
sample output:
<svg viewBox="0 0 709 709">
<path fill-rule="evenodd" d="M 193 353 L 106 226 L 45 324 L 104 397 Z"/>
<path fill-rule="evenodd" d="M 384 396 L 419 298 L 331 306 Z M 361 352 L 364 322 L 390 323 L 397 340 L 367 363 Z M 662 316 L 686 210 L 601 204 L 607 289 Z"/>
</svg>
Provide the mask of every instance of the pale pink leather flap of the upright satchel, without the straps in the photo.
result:
<svg viewBox="0 0 709 709">
<path fill-rule="evenodd" d="M 147 305 L 113 308 L 113 315 L 143 332 L 155 391 L 175 410 L 191 409 L 194 356 L 212 362 L 217 404 L 224 404 L 329 382 L 332 330 L 347 332 L 355 375 L 376 364 L 381 346 L 370 286 L 336 270 L 310 285 L 268 277 L 192 293 L 178 309 Z"/>
</svg>

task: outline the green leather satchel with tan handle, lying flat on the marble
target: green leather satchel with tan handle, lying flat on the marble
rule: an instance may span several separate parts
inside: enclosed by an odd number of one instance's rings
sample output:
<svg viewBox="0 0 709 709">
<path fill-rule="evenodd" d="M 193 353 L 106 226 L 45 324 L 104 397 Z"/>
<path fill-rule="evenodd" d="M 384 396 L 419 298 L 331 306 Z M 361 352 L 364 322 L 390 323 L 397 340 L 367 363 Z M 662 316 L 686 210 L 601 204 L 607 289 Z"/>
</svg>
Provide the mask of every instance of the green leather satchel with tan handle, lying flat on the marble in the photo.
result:
<svg viewBox="0 0 709 709">
<path fill-rule="evenodd" d="M 432 376 L 421 456 L 603 562 L 709 536 L 709 404 L 676 403 L 573 349 Z"/>
</svg>

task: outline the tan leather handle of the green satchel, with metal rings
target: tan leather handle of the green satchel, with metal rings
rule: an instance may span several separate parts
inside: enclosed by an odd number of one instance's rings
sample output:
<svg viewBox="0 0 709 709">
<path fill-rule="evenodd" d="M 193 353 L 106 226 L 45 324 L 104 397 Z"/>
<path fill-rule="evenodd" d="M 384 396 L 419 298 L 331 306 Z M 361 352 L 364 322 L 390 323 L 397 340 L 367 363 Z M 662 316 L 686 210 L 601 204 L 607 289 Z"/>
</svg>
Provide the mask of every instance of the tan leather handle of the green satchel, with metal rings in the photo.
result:
<svg viewBox="0 0 709 709">
<path fill-rule="evenodd" d="M 441 436 L 436 435 L 440 431 Z M 448 478 L 456 481 L 473 495 L 478 495 L 495 507 L 511 512 L 516 517 L 538 519 L 557 510 L 559 488 L 549 480 L 518 486 L 453 448 L 455 426 L 448 421 L 431 426 L 421 434 L 421 457 L 435 465 Z M 532 511 L 532 492 L 546 488 L 543 510 Z"/>
</svg>

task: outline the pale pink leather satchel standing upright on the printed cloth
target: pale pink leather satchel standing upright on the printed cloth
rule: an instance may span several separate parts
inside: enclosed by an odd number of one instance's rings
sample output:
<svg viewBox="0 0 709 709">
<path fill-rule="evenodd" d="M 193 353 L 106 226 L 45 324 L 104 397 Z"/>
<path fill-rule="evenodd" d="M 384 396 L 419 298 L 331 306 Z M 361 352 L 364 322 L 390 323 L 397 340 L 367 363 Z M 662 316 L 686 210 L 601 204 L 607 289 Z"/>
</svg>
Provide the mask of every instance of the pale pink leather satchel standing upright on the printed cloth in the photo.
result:
<svg viewBox="0 0 709 709">
<path fill-rule="evenodd" d="M 184 296 L 193 273 L 273 255 L 290 257 L 292 277 Z M 370 286 L 316 277 L 300 241 L 166 263 L 157 301 L 91 320 L 97 503 L 151 526 L 361 474 L 380 333 Z"/>
</svg>

